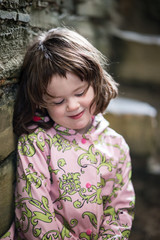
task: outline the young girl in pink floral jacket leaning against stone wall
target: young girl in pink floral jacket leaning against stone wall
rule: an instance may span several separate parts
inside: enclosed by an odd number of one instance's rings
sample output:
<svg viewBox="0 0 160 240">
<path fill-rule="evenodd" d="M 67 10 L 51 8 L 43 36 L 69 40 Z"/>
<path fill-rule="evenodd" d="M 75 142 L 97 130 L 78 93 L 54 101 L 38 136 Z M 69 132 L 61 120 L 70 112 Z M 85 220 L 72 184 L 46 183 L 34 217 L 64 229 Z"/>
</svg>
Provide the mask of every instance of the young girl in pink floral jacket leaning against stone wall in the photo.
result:
<svg viewBox="0 0 160 240">
<path fill-rule="evenodd" d="M 117 84 L 78 33 L 56 28 L 28 49 L 14 111 L 15 232 L 4 239 L 128 239 L 129 148 L 103 118 Z M 14 234 L 14 236 L 13 236 Z"/>
</svg>

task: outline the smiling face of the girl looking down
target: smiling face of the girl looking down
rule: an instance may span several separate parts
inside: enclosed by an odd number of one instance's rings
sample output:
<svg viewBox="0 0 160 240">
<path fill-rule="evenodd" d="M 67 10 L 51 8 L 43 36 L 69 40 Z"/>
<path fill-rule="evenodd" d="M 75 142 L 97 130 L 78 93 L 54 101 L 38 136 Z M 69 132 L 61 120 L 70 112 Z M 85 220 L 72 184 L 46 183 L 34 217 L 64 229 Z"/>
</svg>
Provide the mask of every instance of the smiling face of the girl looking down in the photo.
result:
<svg viewBox="0 0 160 240">
<path fill-rule="evenodd" d="M 92 121 L 95 107 L 90 105 L 94 98 L 92 86 L 73 74 L 67 73 L 66 78 L 54 75 L 48 84 L 45 95 L 47 111 L 54 122 L 63 127 L 85 133 Z"/>
</svg>

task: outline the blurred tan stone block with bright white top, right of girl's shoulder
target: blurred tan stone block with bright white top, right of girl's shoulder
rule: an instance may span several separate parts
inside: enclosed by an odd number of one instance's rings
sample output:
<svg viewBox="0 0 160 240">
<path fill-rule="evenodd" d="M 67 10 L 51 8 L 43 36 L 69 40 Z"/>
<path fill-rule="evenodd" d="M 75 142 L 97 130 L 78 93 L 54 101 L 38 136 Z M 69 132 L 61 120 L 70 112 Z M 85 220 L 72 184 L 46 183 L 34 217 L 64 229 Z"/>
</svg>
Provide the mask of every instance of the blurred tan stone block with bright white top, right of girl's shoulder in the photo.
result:
<svg viewBox="0 0 160 240">
<path fill-rule="evenodd" d="M 136 156 L 151 156 L 156 148 L 156 110 L 144 102 L 117 98 L 112 100 L 105 118 L 120 133 Z"/>
</svg>

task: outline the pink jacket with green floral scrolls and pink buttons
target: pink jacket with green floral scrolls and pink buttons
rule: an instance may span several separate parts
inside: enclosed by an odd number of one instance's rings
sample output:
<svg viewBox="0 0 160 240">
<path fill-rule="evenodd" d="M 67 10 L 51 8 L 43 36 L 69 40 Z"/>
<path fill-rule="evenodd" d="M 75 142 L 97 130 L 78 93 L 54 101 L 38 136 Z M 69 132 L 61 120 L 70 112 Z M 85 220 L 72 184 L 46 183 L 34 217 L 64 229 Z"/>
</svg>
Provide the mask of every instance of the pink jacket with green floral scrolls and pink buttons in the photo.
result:
<svg viewBox="0 0 160 240">
<path fill-rule="evenodd" d="M 129 148 L 101 114 L 83 135 L 57 124 L 22 135 L 18 156 L 16 227 L 2 239 L 129 238 Z"/>
</svg>

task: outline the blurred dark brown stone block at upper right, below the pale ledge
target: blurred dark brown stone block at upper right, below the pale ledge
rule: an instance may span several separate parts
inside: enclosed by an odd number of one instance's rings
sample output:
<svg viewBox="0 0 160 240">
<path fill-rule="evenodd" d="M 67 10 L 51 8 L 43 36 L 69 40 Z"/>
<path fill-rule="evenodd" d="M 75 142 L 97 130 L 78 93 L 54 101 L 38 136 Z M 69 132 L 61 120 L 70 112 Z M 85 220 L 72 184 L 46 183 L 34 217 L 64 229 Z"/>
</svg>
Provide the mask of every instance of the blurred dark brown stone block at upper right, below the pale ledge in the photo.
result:
<svg viewBox="0 0 160 240">
<path fill-rule="evenodd" d="M 157 64 L 160 62 L 160 45 L 116 39 L 113 49 L 118 56 L 113 61 L 119 62 L 113 67 L 120 81 L 130 85 L 160 85 L 160 68 Z"/>
</svg>

